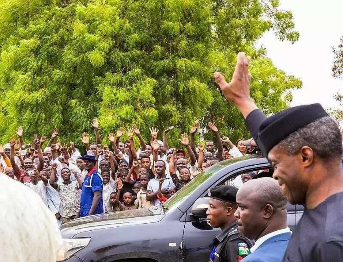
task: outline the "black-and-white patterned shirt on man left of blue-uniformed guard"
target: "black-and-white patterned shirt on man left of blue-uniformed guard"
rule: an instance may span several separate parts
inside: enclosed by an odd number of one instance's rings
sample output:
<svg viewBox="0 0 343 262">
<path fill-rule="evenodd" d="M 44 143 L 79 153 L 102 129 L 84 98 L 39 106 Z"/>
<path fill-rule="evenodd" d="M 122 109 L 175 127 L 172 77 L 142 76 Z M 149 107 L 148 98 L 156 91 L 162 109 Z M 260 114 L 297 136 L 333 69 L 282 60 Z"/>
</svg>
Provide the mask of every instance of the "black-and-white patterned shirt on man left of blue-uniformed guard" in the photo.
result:
<svg viewBox="0 0 343 262">
<path fill-rule="evenodd" d="M 80 210 L 79 183 L 73 181 L 70 184 L 59 183 L 57 191 L 60 194 L 63 208 L 61 216 L 64 218 L 76 216 Z"/>
</svg>

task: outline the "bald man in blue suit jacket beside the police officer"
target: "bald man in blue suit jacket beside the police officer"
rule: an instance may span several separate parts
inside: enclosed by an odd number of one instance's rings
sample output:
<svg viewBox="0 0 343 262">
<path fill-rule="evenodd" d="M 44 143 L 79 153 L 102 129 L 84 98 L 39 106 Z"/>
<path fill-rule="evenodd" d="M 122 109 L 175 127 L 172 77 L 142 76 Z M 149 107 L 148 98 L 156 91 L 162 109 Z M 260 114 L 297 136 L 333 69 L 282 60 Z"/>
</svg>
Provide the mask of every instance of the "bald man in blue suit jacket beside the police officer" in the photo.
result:
<svg viewBox="0 0 343 262">
<path fill-rule="evenodd" d="M 252 179 L 237 192 L 238 231 L 256 243 L 241 262 L 282 262 L 292 232 L 287 227 L 287 198 L 271 177 Z"/>
</svg>

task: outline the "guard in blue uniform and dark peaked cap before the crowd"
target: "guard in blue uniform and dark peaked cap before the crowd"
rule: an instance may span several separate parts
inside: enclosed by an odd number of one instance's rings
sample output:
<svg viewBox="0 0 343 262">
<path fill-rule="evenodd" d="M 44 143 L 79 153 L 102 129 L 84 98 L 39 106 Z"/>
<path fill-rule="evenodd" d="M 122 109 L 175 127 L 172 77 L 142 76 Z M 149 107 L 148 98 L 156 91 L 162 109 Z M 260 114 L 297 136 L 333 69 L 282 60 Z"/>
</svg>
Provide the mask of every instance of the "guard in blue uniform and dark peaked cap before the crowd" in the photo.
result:
<svg viewBox="0 0 343 262">
<path fill-rule="evenodd" d="M 88 171 L 83 184 L 80 200 L 80 217 L 102 214 L 103 209 L 103 179 L 99 175 L 95 155 L 85 155 L 81 158 L 84 168 Z"/>
</svg>

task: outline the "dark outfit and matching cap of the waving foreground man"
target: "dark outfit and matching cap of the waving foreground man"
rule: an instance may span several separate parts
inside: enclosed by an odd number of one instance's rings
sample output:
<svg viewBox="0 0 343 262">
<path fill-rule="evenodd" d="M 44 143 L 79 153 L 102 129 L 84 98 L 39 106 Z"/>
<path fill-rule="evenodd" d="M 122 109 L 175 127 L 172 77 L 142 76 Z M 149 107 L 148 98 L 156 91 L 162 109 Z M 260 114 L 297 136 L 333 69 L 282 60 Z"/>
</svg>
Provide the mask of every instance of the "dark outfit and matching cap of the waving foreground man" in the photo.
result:
<svg viewBox="0 0 343 262">
<path fill-rule="evenodd" d="M 268 152 L 288 135 L 320 118 L 328 117 L 320 104 L 283 110 L 271 117 L 253 110 L 246 124 L 259 148 Z M 343 192 L 331 195 L 314 209 L 305 207 L 284 254 L 283 261 L 342 261 Z"/>
</svg>

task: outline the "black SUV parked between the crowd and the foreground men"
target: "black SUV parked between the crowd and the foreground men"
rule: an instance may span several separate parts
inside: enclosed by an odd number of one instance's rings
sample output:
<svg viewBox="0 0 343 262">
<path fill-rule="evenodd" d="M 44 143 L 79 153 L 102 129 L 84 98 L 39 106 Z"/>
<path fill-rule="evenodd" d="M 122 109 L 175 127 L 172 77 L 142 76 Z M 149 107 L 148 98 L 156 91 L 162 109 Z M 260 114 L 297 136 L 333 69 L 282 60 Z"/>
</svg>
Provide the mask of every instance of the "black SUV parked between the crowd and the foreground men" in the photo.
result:
<svg viewBox="0 0 343 262">
<path fill-rule="evenodd" d="M 194 262 L 206 261 L 220 229 L 206 222 L 209 188 L 240 174 L 270 168 L 265 157 L 249 155 L 222 161 L 198 175 L 163 206 L 93 215 L 61 226 L 67 243 L 64 261 Z M 208 203 L 208 201 L 207 201 Z M 304 207 L 287 206 L 295 230 Z"/>
</svg>

